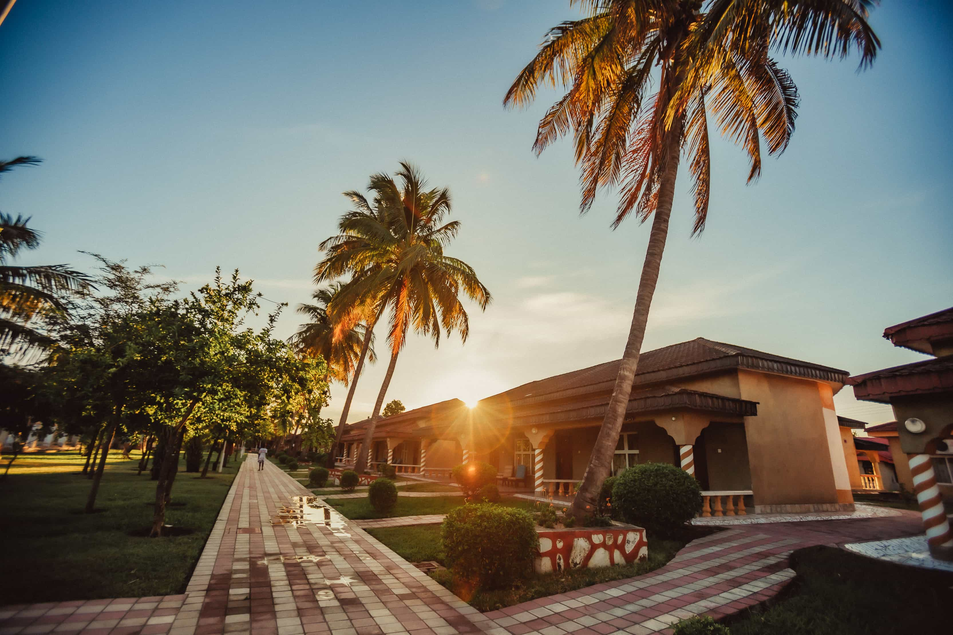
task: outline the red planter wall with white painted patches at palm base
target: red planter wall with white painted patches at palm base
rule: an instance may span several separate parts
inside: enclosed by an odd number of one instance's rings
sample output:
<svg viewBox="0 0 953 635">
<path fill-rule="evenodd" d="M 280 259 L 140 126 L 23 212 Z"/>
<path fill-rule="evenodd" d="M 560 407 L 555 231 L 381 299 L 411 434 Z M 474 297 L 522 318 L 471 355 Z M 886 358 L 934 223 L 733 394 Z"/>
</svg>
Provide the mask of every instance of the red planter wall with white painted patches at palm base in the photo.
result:
<svg viewBox="0 0 953 635">
<path fill-rule="evenodd" d="M 587 566 L 629 565 L 649 556 L 645 529 L 634 525 L 586 529 L 537 529 L 537 573 Z"/>
</svg>

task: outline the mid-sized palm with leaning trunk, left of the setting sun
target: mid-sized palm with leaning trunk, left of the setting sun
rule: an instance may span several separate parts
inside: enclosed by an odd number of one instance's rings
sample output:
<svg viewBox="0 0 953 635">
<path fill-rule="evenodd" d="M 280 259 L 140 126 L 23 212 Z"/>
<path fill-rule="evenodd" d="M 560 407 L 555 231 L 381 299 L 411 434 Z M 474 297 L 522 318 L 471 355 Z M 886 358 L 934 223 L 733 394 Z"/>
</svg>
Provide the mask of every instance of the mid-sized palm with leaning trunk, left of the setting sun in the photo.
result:
<svg viewBox="0 0 953 635">
<path fill-rule="evenodd" d="M 370 201 L 360 192 L 346 192 L 356 209 L 341 218 L 340 234 L 321 245 L 327 257 L 315 269 L 315 282 L 352 275 L 335 296 L 332 315 L 372 305 L 375 317 L 369 329 L 373 330 L 385 309 L 390 309 L 391 360 L 364 433 L 355 466 L 358 472 L 367 466 L 380 408 L 411 328 L 433 338 L 435 346 L 439 346 L 441 330 L 448 334 L 456 330 L 466 341 L 469 320 L 460 292 L 481 309 L 491 300 L 472 267 L 444 254 L 460 228 L 459 221 L 443 222 L 451 212 L 450 191 L 425 189 L 419 170 L 406 162 L 401 162 L 396 176 L 399 187 L 387 174 L 372 176 Z"/>
</svg>

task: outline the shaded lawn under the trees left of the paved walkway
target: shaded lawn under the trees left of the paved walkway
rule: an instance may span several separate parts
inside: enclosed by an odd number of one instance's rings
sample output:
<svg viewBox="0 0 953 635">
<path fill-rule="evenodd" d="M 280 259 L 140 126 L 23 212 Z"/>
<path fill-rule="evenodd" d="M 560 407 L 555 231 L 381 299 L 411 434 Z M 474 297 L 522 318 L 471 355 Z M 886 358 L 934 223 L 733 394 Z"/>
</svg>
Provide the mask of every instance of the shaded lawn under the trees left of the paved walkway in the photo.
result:
<svg viewBox="0 0 953 635">
<path fill-rule="evenodd" d="M 199 479 L 183 457 L 166 523 L 194 532 L 151 539 L 127 533 L 152 525 L 155 482 L 148 471 L 136 475 L 138 452 L 132 460 L 110 452 L 98 513 L 81 513 L 91 486 L 79 473 L 84 463 L 77 452 L 21 455 L 0 482 L 0 604 L 184 591 L 238 466 Z"/>
</svg>

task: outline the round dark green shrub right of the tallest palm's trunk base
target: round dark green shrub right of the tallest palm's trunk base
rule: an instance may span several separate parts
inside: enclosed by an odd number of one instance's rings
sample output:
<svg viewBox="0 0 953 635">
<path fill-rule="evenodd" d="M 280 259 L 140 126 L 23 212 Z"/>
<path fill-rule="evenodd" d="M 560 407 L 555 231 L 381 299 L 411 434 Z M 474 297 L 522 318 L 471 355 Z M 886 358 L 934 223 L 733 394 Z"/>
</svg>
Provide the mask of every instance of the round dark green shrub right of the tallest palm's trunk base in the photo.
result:
<svg viewBox="0 0 953 635">
<path fill-rule="evenodd" d="M 699 514 L 701 488 L 679 467 L 646 463 L 616 477 L 612 500 L 622 520 L 664 538 Z"/>
</svg>

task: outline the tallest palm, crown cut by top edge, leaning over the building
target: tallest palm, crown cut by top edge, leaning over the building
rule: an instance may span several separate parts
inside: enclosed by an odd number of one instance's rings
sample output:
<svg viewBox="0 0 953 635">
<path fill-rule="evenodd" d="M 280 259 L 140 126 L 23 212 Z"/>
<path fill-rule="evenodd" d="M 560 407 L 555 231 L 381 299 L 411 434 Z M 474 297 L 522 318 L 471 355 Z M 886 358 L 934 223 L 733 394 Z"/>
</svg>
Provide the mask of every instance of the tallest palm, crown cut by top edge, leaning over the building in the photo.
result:
<svg viewBox="0 0 953 635">
<path fill-rule="evenodd" d="M 635 212 L 653 216 L 632 326 L 592 458 L 573 505 L 596 508 L 610 474 L 629 401 L 649 307 L 659 279 L 672 198 L 684 151 L 689 158 L 695 228 L 708 212 L 708 116 L 748 154 L 758 177 L 761 144 L 781 153 L 794 131 L 798 90 L 770 52 L 845 57 L 873 63 L 880 41 L 867 24 L 872 0 L 571 0 L 586 13 L 550 30 L 517 75 L 504 106 L 523 107 L 540 86 L 565 95 L 539 122 L 534 149 L 573 131 L 580 164 L 580 211 L 598 189 L 618 186 L 613 228 Z"/>
</svg>

